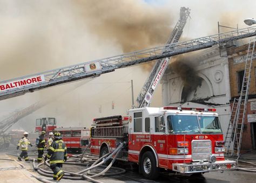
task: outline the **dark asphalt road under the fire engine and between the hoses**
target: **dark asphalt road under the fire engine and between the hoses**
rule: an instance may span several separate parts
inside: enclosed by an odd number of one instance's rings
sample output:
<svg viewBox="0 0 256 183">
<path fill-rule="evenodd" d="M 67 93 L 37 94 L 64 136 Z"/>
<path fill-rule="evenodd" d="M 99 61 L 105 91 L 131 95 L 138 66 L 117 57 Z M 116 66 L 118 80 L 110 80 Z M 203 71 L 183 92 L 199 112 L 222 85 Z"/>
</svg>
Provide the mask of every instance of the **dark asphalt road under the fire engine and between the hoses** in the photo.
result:
<svg viewBox="0 0 256 183">
<path fill-rule="evenodd" d="M 12 151 L 14 150 L 13 148 Z M 9 151 L 10 151 L 9 149 Z M 8 150 L 6 150 L 8 151 Z M 5 152 L 6 152 L 5 151 Z M 34 151 L 35 152 L 35 151 Z M 17 153 L 17 152 L 16 152 Z M 32 149 L 30 151 L 30 158 L 36 158 L 36 154 L 33 153 Z M 10 156 L 12 158 L 17 158 Z M 52 180 L 52 178 L 49 177 L 43 177 L 42 175 L 39 175 L 37 172 L 33 171 L 32 163 L 21 161 L 23 165 L 25 165 L 26 169 L 30 171 L 31 173 L 42 177 L 46 180 Z M 122 166 L 119 164 L 119 167 L 125 168 L 126 173 L 111 177 L 99 177 L 96 178 L 99 181 L 106 182 L 106 183 L 116 183 L 116 182 L 142 182 L 142 183 L 153 183 L 153 182 L 159 182 L 159 183 L 167 183 L 167 182 L 207 182 L 207 183 L 213 183 L 213 182 L 220 182 L 220 183 L 227 183 L 227 182 L 238 182 L 238 183 L 255 183 L 256 182 L 256 173 L 254 172 L 245 172 L 245 171 L 224 171 L 224 173 L 220 172 L 208 172 L 201 176 L 186 176 L 186 175 L 169 175 L 168 173 L 161 173 L 160 177 L 157 180 L 147 180 L 143 177 L 143 175 L 138 173 L 138 170 L 134 168 L 131 170 L 129 166 Z M 46 167 L 45 165 L 42 167 L 46 170 L 50 169 Z M 79 166 L 79 165 L 64 165 L 63 169 L 66 171 L 72 171 L 72 172 L 79 172 L 80 170 L 83 170 L 86 168 L 86 166 Z M 25 181 L 25 180 L 24 180 Z M 60 182 L 87 182 L 84 180 L 68 180 L 68 179 L 62 179 Z"/>
</svg>

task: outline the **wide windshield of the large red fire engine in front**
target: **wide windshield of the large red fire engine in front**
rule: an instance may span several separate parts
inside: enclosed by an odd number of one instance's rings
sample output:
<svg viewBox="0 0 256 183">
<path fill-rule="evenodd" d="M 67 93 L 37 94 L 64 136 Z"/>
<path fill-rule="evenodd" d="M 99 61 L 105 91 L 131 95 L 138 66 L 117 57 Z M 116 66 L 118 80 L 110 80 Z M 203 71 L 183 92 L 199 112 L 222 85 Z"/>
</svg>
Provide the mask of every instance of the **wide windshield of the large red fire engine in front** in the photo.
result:
<svg viewBox="0 0 256 183">
<path fill-rule="evenodd" d="M 216 116 L 169 115 L 167 123 L 169 133 L 221 133 Z"/>
</svg>

